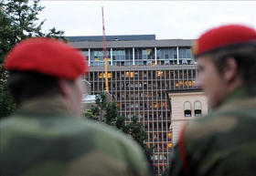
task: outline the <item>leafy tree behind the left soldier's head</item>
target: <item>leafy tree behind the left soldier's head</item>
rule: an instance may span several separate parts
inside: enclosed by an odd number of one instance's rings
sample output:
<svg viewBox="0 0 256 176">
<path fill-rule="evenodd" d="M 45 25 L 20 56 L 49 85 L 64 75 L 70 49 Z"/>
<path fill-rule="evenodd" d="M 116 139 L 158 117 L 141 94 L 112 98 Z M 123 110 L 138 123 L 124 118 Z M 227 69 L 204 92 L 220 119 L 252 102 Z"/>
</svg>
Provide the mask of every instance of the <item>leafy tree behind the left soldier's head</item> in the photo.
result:
<svg viewBox="0 0 256 176">
<path fill-rule="evenodd" d="M 48 36 L 66 41 L 64 32 L 56 28 L 42 33 L 45 22 L 38 20 L 38 13 L 44 7 L 38 5 L 39 0 L 0 0 L 0 118 L 8 116 L 16 106 L 8 92 L 3 62 L 7 52 L 19 41 L 32 36 Z"/>
</svg>

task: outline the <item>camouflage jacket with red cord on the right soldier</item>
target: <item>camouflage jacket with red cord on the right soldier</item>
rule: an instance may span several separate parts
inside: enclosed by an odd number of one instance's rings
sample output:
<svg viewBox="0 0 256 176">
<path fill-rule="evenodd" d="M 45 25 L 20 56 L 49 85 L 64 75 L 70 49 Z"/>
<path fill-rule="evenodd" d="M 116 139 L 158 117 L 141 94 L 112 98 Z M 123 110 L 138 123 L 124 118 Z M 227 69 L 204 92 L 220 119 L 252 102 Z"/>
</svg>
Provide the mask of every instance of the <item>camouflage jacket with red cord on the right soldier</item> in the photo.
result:
<svg viewBox="0 0 256 176">
<path fill-rule="evenodd" d="M 171 176 L 256 175 L 256 88 L 238 88 L 221 107 L 182 129 Z"/>
</svg>

